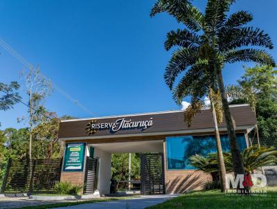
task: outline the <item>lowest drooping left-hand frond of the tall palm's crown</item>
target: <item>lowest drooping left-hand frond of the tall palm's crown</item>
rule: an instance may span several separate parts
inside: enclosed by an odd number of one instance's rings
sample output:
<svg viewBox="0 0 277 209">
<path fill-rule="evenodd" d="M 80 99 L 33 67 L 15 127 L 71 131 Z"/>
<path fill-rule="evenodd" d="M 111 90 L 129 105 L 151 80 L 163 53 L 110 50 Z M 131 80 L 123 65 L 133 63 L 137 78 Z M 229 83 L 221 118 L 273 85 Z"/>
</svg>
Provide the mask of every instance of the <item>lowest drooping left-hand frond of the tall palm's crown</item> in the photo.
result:
<svg viewBox="0 0 277 209">
<path fill-rule="evenodd" d="M 164 79 L 170 89 L 172 89 L 179 73 L 185 71 L 188 66 L 195 64 L 198 57 L 198 48 L 179 48 L 173 53 L 164 74 Z"/>
</svg>

